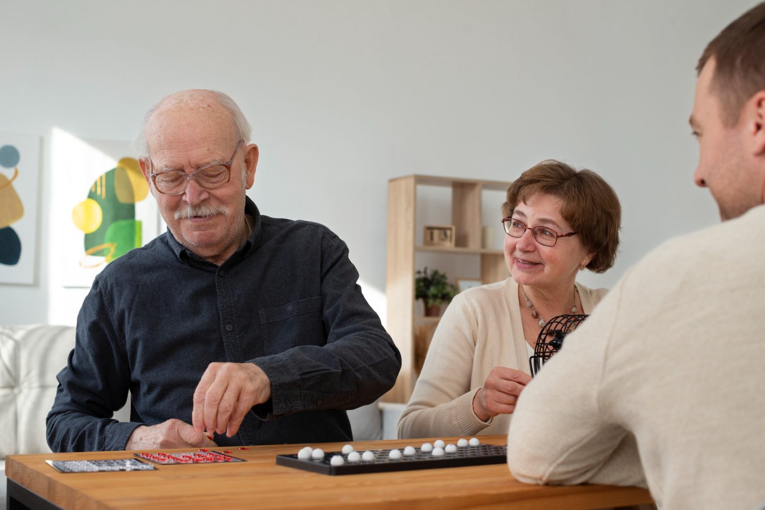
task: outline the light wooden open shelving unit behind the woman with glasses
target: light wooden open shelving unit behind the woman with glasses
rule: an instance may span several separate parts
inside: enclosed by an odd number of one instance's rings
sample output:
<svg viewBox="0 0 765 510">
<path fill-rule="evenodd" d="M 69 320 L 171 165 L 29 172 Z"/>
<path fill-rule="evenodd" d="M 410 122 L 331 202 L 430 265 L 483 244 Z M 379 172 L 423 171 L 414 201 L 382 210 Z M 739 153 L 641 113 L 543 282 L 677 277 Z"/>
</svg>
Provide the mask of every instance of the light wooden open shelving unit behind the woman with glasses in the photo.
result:
<svg viewBox="0 0 765 510">
<path fill-rule="evenodd" d="M 402 369 L 386 401 L 406 402 L 427 346 L 415 346 L 415 330 L 432 334 L 438 318 L 415 317 L 415 252 L 477 255 L 483 284 L 508 276 L 502 250 L 481 248 L 481 194 L 505 191 L 509 182 L 408 175 L 388 181 L 388 242 L 386 262 L 387 330 L 399 347 Z M 451 187 L 451 224 L 454 247 L 415 245 L 417 187 Z"/>
</svg>

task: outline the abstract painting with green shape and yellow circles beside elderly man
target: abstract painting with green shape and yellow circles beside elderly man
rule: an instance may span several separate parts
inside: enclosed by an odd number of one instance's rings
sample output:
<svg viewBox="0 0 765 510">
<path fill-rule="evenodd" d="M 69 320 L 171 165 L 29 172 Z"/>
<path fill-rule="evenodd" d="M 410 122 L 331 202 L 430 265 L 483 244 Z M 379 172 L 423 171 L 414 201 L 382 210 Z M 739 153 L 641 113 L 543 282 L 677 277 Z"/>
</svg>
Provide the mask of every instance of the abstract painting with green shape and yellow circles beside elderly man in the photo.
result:
<svg viewBox="0 0 765 510">
<path fill-rule="evenodd" d="M 157 236 L 156 202 L 126 141 L 57 130 L 52 151 L 63 286 L 90 287 L 106 265 Z"/>
</svg>

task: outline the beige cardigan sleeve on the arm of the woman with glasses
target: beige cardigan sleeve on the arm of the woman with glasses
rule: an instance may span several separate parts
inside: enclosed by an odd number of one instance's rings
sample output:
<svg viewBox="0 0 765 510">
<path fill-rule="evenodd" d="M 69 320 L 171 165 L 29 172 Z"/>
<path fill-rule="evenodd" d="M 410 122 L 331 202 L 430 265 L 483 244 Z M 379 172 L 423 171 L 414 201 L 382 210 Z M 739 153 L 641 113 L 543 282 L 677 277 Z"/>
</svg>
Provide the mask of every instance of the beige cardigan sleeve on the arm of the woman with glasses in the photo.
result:
<svg viewBox="0 0 765 510">
<path fill-rule="evenodd" d="M 428 356 L 401 419 L 399 437 L 477 434 L 491 424 L 473 412 L 470 388 L 476 323 L 464 298 L 454 297 L 438 323 Z"/>
</svg>

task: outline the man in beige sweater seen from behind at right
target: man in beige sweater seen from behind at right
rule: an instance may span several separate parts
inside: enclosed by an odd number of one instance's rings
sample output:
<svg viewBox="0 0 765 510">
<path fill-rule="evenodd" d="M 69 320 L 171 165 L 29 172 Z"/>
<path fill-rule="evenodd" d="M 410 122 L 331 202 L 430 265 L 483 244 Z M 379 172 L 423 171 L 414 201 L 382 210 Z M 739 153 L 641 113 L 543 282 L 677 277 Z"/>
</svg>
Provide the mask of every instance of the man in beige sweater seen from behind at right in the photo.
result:
<svg viewBox="0 0 765 510">
<path fill-rule="evenodd" d="M 765 501 L 765 3 L 697 70 L 695 182 L 723 223 L 630 268 L 526 387 L 517 479 L 647 486 L 660 508 Z"/>
</svg>

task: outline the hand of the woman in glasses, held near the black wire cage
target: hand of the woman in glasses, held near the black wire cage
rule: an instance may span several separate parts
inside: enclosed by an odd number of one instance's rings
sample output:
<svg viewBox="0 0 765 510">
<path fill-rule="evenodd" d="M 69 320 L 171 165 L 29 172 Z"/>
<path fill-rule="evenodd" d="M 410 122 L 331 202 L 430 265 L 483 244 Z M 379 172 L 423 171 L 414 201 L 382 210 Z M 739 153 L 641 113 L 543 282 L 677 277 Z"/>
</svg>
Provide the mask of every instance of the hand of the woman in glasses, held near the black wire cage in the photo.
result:
<svg viewBox="0 0 765 510">
<path fill-rule="evenodd" d="M 531 375 L 520 370 L 495 366 L 483 382 L 483 388 L 473 398 L 473 412 L 480 421 L 487 421 L 497 414 L 513 413 L 518 395 L 529 381 Z"/>
</svg>

